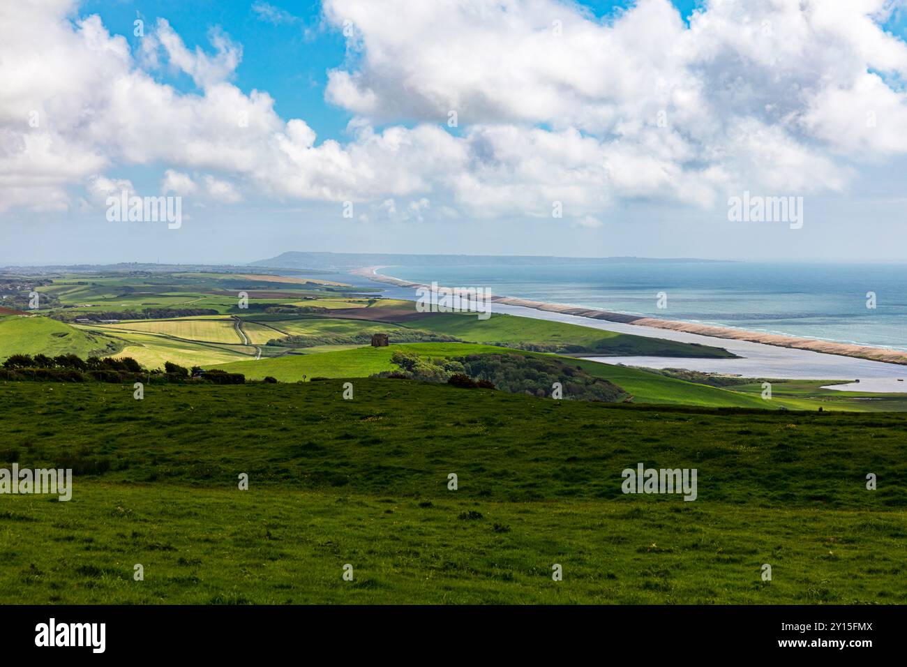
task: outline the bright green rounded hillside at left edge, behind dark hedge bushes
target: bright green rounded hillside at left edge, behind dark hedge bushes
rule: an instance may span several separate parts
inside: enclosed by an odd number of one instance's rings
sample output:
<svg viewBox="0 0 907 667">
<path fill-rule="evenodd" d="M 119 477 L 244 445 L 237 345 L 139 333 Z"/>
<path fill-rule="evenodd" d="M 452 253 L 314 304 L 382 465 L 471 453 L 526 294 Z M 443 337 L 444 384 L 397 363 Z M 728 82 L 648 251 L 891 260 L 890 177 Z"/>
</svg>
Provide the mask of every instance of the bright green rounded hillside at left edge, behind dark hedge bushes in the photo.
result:
<svg viewBox="0 0 907 667">
<path fill-rule="evenodd" d="M 0 318 L 0 361 L 14 354 L 88 357 L 122 349 L 114 338 L 89 333 L 43 316 Z"/>
</svg>

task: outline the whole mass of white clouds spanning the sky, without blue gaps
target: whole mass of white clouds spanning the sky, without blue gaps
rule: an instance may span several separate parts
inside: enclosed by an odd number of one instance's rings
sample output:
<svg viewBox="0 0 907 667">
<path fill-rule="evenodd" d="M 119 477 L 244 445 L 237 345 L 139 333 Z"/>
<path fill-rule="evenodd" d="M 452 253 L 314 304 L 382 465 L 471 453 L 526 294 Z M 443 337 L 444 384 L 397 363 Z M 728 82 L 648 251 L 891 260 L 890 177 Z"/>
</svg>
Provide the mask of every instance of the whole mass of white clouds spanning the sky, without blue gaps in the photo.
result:
<svg viewBox="0 0 907 667">
<path fill-rule="evenodd" d="M 355 26 L 326 98 L 356 120 L 346 142 L 319 142 L 231 83 L 242 47 L 227 34 L 190 50 L 160 18 L 135 54 L 74 0 L 0 4 L 0 211 L 65 210 L 73 188 L 94 201 L 116 185 L 99 174 L 129 165 L 163 165 L 164 192 L 361 201 L 379 217 L 390 201 L 410 221 L 550 218 L 560 202 L 594 227 L 618 201 L 841 190 L 863 162 L 907 152 L 891 11 L 710 0 L 686 25 L 668 0 L 607 21 L 559 0 L 325 0 L 328 25 Z"/>
</svg>

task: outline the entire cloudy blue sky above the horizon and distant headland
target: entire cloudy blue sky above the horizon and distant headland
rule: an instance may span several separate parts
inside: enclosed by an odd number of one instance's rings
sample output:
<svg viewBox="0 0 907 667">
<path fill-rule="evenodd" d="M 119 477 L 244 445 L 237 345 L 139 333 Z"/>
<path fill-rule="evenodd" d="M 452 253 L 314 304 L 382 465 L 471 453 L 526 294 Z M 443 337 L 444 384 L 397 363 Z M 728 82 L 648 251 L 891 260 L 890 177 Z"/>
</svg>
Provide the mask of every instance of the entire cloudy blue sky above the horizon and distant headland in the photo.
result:
<svg viewBox="0 0 907 667">
<path fill-rule="evenodd" d="M 48 0 L 5 21 L 0 130 L 22 153 L 0 160 L 0 190 L 12 183 L 0 263 L 284 250 L 907 260 L 891 242 L 907 203 L 901 0 L 864 0 L 881 18 L 767 0 L 512 2 L 433 15 L 441 3 Z M 708 20 L 691 30 L 694 10 Z M 552 16 L 562 39 L 545 36 Z M 129 51 L 113 56 L 118 39 Z M 8 120 L 34 110 L 46 124 Z M 254 132 L 235 132 L 240 111 Z M 107 221 L 104 196 L 122 189 L 181 194 L 180 230 Z M 743 191 L 802 196 L 807 223 L 729 224 L 727 198 Z M 36 230 L 46 241 L 29 242 Z"/>
</svg>

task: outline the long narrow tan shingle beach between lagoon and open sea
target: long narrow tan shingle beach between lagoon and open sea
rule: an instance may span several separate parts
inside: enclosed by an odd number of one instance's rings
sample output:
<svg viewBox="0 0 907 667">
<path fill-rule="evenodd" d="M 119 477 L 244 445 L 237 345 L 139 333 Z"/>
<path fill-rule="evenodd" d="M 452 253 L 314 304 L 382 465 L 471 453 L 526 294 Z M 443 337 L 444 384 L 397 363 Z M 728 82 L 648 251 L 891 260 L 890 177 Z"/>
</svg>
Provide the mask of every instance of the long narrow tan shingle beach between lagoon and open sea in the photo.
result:
<svg viewBox="0 0 907 667">
<path fill-rule="evenodd" d="M 428 285 L 409 280 L 400 280 L 393 276 L 385 276 L 378 273 L 378 270 L 385 267 L 374 266 L 364 267 L 350 271 L 356 276 L 384 282 L 395 287 L 420 289 L 428 288 Z M 493 295 L 492 303 L 505 304 L 509 306 L 519 306 L 522 308 L 547 310 L 550 312 L 561 313 L 563 315 L 572 315 L 580 318 L 601 319 L 619 324 L 629 324 L 647 329 L 663 329 L 679 331 L 688 334 L 696 334 L 707 338 L 742 340 L 762 345 L 770 345 L 776 348 L 793 348 L 804 349 L 822 354 L 837 355 L 840 357 L 851 357 L 866 359 L 869 361 L 882 361 L 889 364 L 900 364 L 907 366 L 907 352 L 899 352 L 892 349 L 873 348 L 865 345 L 854 345 L 851 343 L 835 343 L 827 340 L 816 340 L 814 338 L 799 338 L 795 336 L 783 336 L 780 334 L 758 333 L 756 331 L 746 331 L 744 329 L 731 329 L 729 327 L 717 327 L 713 325 L 693 324 L 690 322 L 680 322 L 672 319 L 647 318 L 638 315 L 627 315 L 625 313 L 612 312 L 610 310 L 578 308 L 576 306 L 567 306 L 558 303 L 546 303 L 544 301 L 535 301 L 532 299 L 517 299 L 515 297 L 503 297 Z"/>
</svg>

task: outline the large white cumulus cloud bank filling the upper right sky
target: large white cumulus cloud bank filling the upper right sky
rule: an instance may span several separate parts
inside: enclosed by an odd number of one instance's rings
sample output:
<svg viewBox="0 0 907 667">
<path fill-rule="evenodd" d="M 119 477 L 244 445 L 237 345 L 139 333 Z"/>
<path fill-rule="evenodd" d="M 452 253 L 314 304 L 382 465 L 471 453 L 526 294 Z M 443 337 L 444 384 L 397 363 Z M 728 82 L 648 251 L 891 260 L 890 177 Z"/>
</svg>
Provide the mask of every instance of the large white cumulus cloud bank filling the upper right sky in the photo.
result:
<svg viewBox="0 0 907 667">
<path fill-rule="evenodd" d="M 689 26 L 668 0 L 611 22 L 555 0 L 441 5 L 327 0 L 356 26 L 327 98 L 375 123 L 455 111 L 472 161 L 453 192 L 480 208 L 838 190 L 839 158 L 907 152 L 907 97 L 871 72 L 907 74 L 885 0 L 713 0 Z"/>
</svg>

